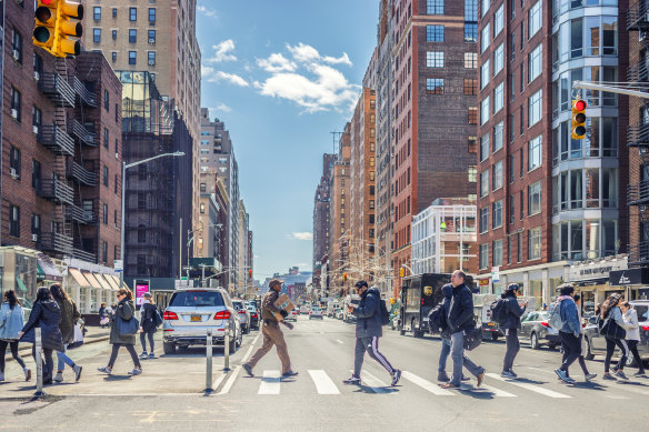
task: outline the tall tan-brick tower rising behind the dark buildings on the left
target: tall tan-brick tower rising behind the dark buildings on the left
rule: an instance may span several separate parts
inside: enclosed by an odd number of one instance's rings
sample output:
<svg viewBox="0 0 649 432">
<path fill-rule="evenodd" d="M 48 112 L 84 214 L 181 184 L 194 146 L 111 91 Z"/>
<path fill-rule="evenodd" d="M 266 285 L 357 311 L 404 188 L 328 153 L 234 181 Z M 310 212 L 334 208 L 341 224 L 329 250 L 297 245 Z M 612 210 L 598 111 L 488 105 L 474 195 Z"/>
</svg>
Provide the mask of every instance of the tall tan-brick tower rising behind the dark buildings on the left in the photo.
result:
<svg viewBox="0 0 649 432">
<path fill-rule="evenodd" d="M 201 52 L 196 0 L 88 0 L 83 7 L 84 49 L 102 52 L 113 70 L 149 72 L 162 99 L 176 101 L 194 140 L 191 193 L 198 221 Z"/>
</svg>

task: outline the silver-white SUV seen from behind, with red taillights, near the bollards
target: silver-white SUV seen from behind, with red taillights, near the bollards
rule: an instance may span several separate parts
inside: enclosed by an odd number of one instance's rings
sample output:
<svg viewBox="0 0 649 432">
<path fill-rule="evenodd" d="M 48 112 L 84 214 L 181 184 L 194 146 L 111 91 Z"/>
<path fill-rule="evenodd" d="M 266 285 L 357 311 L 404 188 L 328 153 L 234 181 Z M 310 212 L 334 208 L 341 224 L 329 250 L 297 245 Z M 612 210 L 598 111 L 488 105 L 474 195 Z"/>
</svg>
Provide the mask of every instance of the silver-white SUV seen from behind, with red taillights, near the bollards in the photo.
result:
<svg viewBox="0 0 649 432">
<path fill-rule="evenodd" d="M 220 288 L 176 290 L 163 314 L 164 354 L 176 353 L 177 346 L 204 345 L 208 330 L 212 331 L 212 343 L 223 344 L 226 328 L 230 352 L 237 351 L 243 340 L 238 315 L 230 295 Z"/>
</svg>

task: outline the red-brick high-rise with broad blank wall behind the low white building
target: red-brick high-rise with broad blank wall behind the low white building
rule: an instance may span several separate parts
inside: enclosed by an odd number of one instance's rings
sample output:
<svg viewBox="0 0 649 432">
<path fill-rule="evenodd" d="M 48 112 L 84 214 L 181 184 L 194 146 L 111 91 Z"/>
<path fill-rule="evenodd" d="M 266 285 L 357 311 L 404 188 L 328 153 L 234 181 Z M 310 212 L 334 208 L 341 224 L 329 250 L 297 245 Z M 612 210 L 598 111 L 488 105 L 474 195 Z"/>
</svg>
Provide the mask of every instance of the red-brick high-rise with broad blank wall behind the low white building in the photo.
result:
<svg viewBox="0 0 649 432">
<path fill-rule="evenodd" d="M 395 2 L 395 292 L 400 290 L 399 269 L 412 264 L 413 214 L 437 198 L 475 193 L 476 3 Z"/>
</svg>

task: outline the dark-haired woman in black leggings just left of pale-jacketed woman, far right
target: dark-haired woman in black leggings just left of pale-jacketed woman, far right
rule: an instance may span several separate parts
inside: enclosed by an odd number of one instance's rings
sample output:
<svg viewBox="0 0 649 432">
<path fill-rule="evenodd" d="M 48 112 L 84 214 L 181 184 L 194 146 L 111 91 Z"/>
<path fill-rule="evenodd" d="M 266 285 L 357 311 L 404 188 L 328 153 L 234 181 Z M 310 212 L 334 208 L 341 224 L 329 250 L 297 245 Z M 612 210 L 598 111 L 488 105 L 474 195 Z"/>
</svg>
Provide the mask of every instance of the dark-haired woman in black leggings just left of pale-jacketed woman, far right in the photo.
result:
<svg viewBox="0 0 649 432">
<path fill-rule="evenodd" d="M 617 292 L 611 293 L 601 305 L 599 319 L 603 324 L 600 326 L 600 331 L 608 324 L 609 328 L 615 328 L 616 325 L 627 329 L 628 324 L 625 323 L 625 319 L 622 318 L 622 311 L 619 308 L 619 304 L 623 301 L 623 298 L 618 294 Z M 612 321 L 611 321 L 612 320 Z M 608 321 L 608 322 L 606 322 Z M 616 376 L 622 380 L 628 380 L 627 375 L 625 374 L 625 364 L 627 363 L 627 359 L 629 358 L 629 345 L 627 345 L 627 341 L 625 338 L 616 336 L 615 331 L 607 332 L 605 334 L 606 339 L 606 358 L 603 360 L 603 379 L 616 381 L 616 378 L 610 374 L 610 364 L 611 359 L 613 356 L 613 352 L 616 351 L 616 346 L 618 346 L 622 351 L 622 355 L 620 360 L 618 360 L 618 365 L 612 368 L 613 373 Z M 626 332 L 625 332 L 626 333 Z M 618 333 L 619 335 L 619 333 Z"/>
</svg>

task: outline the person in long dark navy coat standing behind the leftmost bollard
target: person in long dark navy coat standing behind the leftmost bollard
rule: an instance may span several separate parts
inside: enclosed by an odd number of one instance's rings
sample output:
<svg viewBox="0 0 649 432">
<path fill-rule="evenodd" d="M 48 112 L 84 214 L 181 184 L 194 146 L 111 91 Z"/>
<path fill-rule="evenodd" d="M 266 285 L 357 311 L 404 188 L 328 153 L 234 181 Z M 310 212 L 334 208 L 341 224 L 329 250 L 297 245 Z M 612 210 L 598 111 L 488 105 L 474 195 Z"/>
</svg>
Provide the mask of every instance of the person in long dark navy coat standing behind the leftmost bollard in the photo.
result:
<svg viewBox="0 0 649 432">
<path fill-rule="evenodd" d="M 27 324 L 23 325 L 18 339 L 21 342 L 31 342 L 33 346 L 31 354 L 36 361 L 36 328 L 41 329 L 41 346 L 43 351 L 43 384 L 52 383 L 52 374 L 54 370 L 54 360 L 52 359 L 52 351 L 63 351 L 63 338 L 59 323 L 61 322 L 61 309 L 52 299 L 50 289 L 41 287 L 36 293 L 36 301 L 29 314 Z"/>
</svg>

